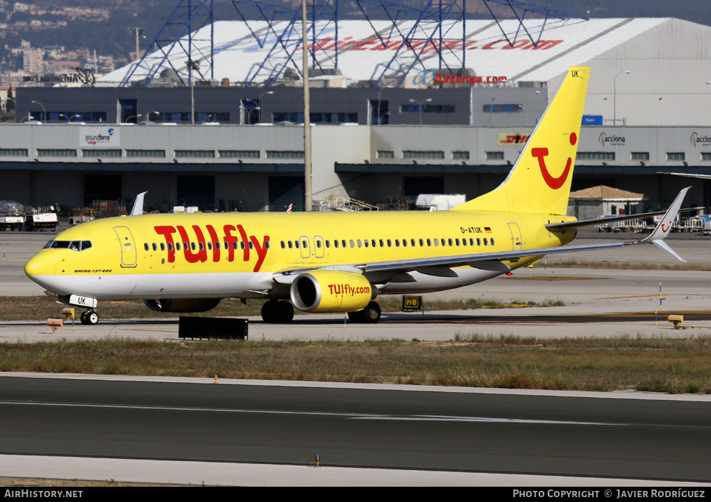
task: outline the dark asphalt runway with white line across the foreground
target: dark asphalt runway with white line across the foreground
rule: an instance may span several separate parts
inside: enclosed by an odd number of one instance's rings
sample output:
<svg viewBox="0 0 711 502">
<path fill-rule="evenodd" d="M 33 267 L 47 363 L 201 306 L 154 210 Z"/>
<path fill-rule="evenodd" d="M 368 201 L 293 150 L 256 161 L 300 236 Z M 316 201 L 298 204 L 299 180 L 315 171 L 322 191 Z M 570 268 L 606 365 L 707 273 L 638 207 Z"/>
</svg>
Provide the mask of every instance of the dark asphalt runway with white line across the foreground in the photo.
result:
<svg viewBox="0 0 711 502">
<path fill-rule="evenodd" d="M 316 455 L 328 468 L 387 469 L 384 484 L 409 484 L 413 470 L 415 484 L 711 481 L 705 396 L 84 378 L 0 378 L 6 459 L 227 463 L 232 484 L 259 484 L 242 464 L 310 467 L 313 479 Z"/>
</svg>

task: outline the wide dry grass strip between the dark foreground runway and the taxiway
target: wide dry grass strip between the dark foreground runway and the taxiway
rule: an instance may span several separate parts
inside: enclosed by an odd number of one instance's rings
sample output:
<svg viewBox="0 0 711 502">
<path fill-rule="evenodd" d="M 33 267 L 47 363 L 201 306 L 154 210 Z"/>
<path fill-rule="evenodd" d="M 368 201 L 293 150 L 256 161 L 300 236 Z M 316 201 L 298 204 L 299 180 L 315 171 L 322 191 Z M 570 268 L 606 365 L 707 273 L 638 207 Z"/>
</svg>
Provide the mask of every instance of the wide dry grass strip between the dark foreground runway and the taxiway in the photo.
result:
<svg viewBox="0 0 711 502">
<path fill-rule="evenodd" d="M 711 393 L 711 337 L 0 343 L 0 371 Z"/>
</svg>

